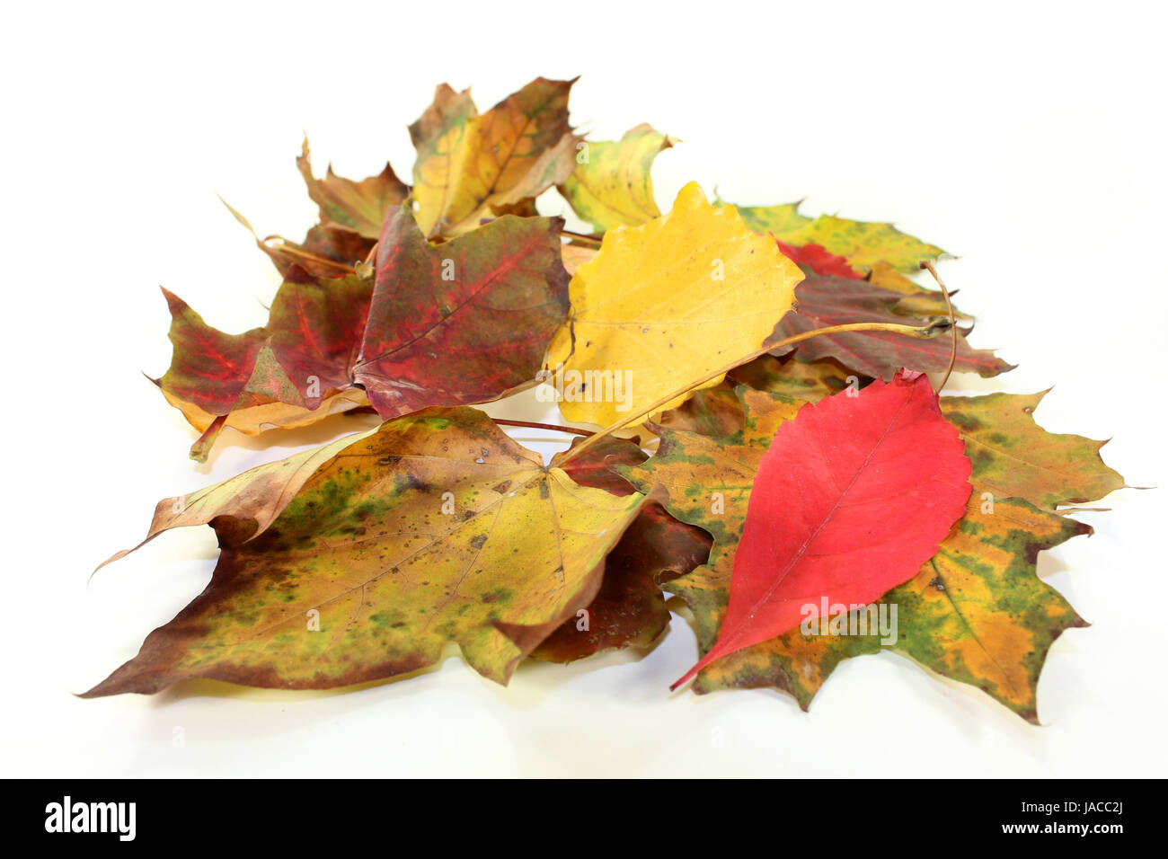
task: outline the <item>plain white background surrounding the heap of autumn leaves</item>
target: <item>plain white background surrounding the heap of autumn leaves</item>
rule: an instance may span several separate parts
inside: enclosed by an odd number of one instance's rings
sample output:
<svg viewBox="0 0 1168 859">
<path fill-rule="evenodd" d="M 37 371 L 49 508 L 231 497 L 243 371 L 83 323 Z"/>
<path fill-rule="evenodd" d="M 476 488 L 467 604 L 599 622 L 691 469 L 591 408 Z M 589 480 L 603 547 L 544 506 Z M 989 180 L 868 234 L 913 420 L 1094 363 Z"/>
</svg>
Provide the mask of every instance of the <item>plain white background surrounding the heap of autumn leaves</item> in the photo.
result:
<svg viewBox="0 0 1168 859">
<path fill-rule="evenodd" d="M 1037 418 L 1106 438 L 1164 486 L 1166 183 L 1155 5 L 9 5 L 0 30 L 4 707 L 0 773 L 218 775 L 1163 775 L 1163 490 L 1124 490 L 1040 561 L 1093 623 L 1061 638 L 1043 727 L 892 654 L 844 664 L 801 713 L 773 691 L 670 695 L 680 618 L 644 658 L 527 665 L 508 688 L 457 656 L 345 693 L 192 683 L 71 695 L 207 583 L 209 528 L 135 543 L 157 499 L 354 428 L 224 434 L 209 466 L 141 375 L 169 360 L 159 284 L 213 325 L 263 324 L 262 234 L 314 220 L 293 159 L 409 176 L 405 126 L 436 84 L 486 109 L 582 75 L 595 139 L 684 140 L 655 169 L 742 203 L 892 220 L 961 256 L 943 275 L 975 345 L 1020 367 L 955 389 L 1057 387 Z M 1162 9 L 1162 7 L 1160 7 Z M 565 212 L 554 194 L 548 214 Z M 512 414 L 529 406 L 493 407 Z M 533 432 L 520 430 L 521 438 Z M 551 448 L 544 445 L 542 450 Z M 186 744 L 173 744 L 181 728 Z"/>
</svg>

